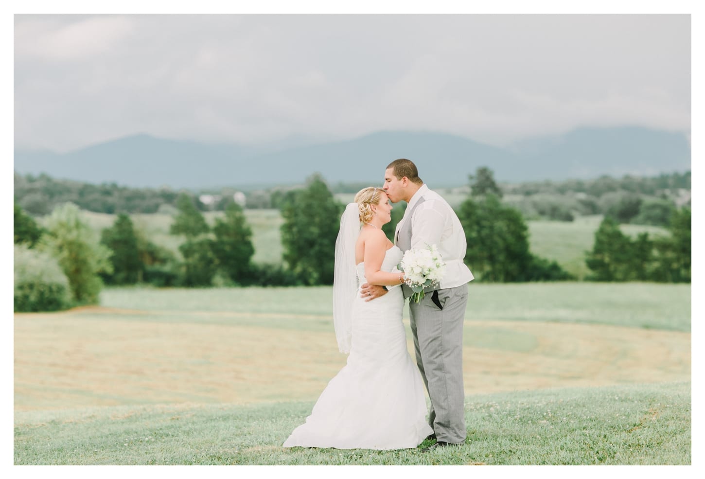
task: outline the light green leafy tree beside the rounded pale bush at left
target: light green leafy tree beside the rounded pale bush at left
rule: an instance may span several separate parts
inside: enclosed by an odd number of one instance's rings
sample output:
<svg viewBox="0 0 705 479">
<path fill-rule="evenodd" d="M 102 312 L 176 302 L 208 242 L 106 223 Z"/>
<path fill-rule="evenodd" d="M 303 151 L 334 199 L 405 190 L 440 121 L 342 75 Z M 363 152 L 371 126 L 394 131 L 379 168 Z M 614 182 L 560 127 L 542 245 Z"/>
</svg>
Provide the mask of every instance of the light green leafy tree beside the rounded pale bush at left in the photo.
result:
<svg viewBox="0 0 705 479">
<path fill-rule="evenodd" d="M 47 230 L 38 247 L 59 261 L 77 303 L 96 303 L 103 287 L 99 273 L 112 272 L 110 250 L 99 243 L 73 203 L 54 208 L 47 219 Z"/>
</svg>

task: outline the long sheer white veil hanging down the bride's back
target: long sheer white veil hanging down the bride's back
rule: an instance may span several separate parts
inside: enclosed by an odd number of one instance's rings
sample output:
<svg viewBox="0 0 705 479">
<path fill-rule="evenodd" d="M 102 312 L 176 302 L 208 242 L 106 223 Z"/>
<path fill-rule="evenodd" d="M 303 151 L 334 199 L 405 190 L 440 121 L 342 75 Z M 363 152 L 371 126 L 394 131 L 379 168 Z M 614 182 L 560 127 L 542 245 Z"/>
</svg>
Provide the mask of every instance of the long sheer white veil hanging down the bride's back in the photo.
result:
<svg viewBox="0 0 705 479">
<path fill-rule="evenodd" d="M 341 353 L 350 353 L 353 337 L 353 301 L 357 294 L 355 243 L 360 236 L 360 207 L 349 203 L 341 217 L 336 239 L 336 263 L 333 274 L 333 326 Z"/>
</svg>

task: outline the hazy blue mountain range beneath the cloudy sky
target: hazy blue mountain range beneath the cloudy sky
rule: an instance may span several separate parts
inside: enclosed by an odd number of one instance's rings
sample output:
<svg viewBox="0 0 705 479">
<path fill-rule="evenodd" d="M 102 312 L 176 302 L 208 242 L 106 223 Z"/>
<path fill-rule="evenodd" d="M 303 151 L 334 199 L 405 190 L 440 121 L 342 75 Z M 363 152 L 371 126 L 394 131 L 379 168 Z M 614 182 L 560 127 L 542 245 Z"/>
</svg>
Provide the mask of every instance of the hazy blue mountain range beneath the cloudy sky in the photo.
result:
<svg viewBox="0 0 705 479">
<path fill-rule="evenodd" d="M 579 128 L 504 148 L 424 132 L 372 133 L 276 152 L 134 135 L 63 154 L 15 150 L 14 167 L 19 174 L 132 187 L 274 186 L 301 183 L 314 172 L 329 183 L 377 184 L 397 158 L 411 159 L 422 179 L 436 187 L 463 185 L 479 166 L 510 183 L 654 176 L 691 167 L 686 135 L 632 126 Z"/>
</svg>

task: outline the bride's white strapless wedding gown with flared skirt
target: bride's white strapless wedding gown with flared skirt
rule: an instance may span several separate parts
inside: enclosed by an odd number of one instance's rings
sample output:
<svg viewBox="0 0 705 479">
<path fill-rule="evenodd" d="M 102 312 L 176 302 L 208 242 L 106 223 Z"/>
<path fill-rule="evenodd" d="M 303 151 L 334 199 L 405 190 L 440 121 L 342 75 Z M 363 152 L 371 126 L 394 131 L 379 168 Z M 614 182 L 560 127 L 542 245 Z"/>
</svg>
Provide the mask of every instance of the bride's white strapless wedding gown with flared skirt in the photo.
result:
<svg viewBox="0 0 705 479">
<path fill-rule="evenodd" d="M 401 257 L 393 246 L 381 269 L 392 271 Z M 364 263 L 357 265 L 357 277 L 359 284 L 365 282 Z M 424 383 L 407 351 L 403 305 L 401 288 L 367 302 L 358 289 L 348 363 L 284 447 L 407 449 L 433 433 L 426 421 Z"/>
</svg>

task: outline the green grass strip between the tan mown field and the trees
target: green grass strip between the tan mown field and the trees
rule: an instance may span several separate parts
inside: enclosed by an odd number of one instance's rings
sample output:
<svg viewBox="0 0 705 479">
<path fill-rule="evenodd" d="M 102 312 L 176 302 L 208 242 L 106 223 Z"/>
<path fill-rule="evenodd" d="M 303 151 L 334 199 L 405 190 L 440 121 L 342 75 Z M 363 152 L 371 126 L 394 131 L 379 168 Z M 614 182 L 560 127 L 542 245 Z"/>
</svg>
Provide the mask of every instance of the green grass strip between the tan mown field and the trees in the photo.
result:
<svg viewBox="0 0 705 479">
<path fill-rule="evenodd" d="M 690 331 L 690 285 L 656 283 L 520 283 L 471 281 L 465 320 L 568 322 Z M 110 288 L 109 308 L 229 311 L 330 317 L 332 287 Z M 408 317 L 408 308 L 405 308 Z M 286 320 L 282 320 L 286 322 Z M 300 320 L 304 322 L 305 320 Z M 296 324 L 300 324 L 300 322 Z"/>
</svg>

